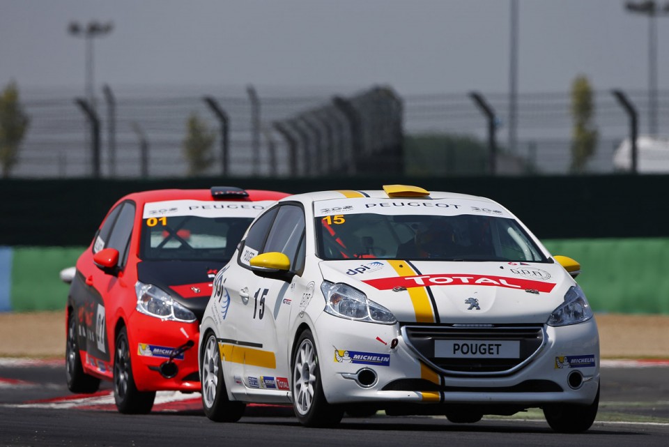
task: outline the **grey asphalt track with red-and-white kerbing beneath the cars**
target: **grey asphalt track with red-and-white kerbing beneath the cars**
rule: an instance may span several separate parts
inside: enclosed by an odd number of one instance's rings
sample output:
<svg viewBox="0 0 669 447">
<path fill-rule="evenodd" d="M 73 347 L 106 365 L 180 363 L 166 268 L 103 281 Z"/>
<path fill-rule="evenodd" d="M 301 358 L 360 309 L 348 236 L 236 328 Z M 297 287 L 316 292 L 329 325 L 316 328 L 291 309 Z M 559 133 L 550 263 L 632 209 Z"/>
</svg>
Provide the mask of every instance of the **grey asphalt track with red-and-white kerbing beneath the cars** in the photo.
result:
<svg viewBox="0 0 669 447">
<path fill-rule="evenodd" d="M 0 359 L 0 446 L 637 446 L 669 445 L 669 362 L 602 365 L 597 421 L 585 434 L 556 434 L 539 411 L 484 418 L 344 418 L 336 429 L 301 427 L 291 409 L 248 407 L 238 423 L 213 423 L 200 395 L 160 393 L 151 414 L 125 416 L 109 384 L 72 395 L 63 362 Z"/>
</svg>

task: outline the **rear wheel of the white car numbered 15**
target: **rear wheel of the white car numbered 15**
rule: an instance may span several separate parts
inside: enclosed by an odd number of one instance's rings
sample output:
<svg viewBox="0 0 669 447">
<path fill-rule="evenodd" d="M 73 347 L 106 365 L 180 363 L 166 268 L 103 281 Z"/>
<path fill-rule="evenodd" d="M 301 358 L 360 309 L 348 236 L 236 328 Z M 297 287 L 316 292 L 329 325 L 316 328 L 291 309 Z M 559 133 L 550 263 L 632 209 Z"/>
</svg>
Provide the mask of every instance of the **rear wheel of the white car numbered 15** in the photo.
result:
<svg viewBox="0 0 669 447">
<path fill-rule="evenodd" d="M 223 378 L 223 364 L 216 336 L 208 332 L 200 359 L 202 407 L 204 414 L 215 422 L 237 422 L 244 415 L 246 404 L 228 397 Z"/>
</svg>

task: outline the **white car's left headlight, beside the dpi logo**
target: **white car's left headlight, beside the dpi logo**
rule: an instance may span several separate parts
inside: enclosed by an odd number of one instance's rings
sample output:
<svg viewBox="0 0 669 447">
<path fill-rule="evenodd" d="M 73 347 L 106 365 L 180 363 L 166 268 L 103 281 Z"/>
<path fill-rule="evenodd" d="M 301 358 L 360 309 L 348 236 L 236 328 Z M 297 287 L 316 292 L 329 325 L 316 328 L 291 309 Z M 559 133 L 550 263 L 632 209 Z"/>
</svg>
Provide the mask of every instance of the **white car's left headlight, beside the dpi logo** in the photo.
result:
<svg viewBox="0 0 669 447">
<path fill-rule="evenodd" d="M 323 281 L 321 291 L 325 296 L 325 312 L 330 315 L 370 323 L 394 324 L 397 322 L 390 310 L 367 299 L 362 291 L 351 286 Z"/>
</svg>

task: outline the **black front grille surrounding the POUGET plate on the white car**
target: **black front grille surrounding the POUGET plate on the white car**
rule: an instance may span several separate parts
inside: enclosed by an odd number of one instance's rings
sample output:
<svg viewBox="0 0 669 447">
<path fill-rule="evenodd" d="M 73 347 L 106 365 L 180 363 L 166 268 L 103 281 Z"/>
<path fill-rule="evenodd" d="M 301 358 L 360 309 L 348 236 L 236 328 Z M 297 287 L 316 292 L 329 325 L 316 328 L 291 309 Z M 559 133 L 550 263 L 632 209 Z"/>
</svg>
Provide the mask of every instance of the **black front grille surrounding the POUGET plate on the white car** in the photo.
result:
<svg viewBox="0 0 669 447">
<path fill-rule="evenodd" d="M 427 364 L 443 374 L 456 376 L 504 375 L 523 368 L 544 346 L 543 325 L 491 325 L 468 327 L 444 326 L 403 326 L 402 335 L 406 343 Z M 476 345 L 477 342 L 518 342 L 517 358 L 455 358 L 436 356 L 437 340 L 459 340 Z"/>
</svg>

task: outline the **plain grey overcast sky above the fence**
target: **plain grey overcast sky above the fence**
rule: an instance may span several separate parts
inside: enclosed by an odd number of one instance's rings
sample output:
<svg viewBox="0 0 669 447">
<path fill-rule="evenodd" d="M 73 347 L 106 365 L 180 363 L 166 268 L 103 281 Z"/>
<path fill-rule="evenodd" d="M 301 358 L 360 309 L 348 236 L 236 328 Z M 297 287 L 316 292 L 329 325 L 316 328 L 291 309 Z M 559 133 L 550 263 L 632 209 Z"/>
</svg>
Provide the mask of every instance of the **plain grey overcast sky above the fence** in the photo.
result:
<svg viewBox="0 0 669 447">
<path fill-rule="evenodd" d="M 403 95 L 509 89 L 511 0 L 0 0 L 0 87 L 84 85 L 72 21 L 95 40 L 99 86 L 369 86 Z M 520 0 L 518 91 L 646 89 L 647 17 L 622 0 Z M 664 2 L 663 2 L 664 3 Z M 657 20 L 669 89 L 669 16 Z"/>
</svg>

